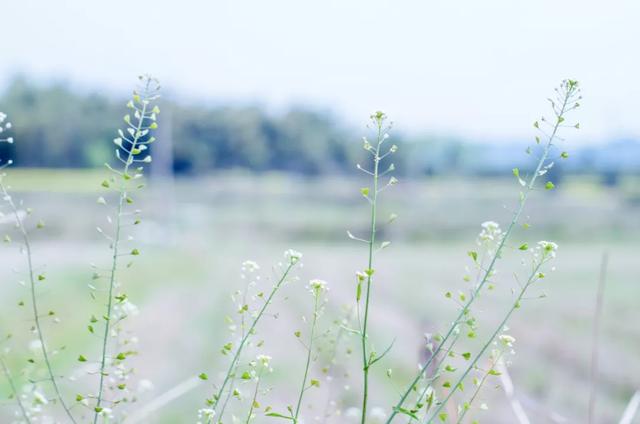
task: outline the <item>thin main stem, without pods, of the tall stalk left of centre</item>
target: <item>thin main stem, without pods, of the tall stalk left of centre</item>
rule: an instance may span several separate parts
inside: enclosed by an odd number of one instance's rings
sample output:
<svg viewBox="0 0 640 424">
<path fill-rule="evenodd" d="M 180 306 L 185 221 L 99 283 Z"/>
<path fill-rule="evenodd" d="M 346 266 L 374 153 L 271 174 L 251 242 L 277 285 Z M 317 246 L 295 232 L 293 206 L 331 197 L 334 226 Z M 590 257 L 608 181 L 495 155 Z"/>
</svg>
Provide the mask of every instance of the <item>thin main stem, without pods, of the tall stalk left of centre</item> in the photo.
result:
<svg viewBox="0 0 640 424">
<path fill-rule="evenodd" d="M 118 198 L 118 209 L 116 213 L 115 233 L 113 237 L 113 256 L 111 257 L 111 271 L 109 273 L 109 298 L 107 300 L 107 311 L 104 316 L 104 333 L 102 335 L 102 355 L 100 358 L 100 384 L 98 386 L 98 398 L 96 401 L 95 413 L 93 416 L 94 424 L 98 422 L 98 416 L 102 410 L 102 401 L 104 396 L 104 378 L 108 373 L 106 372 L 107 366 L 107 347 L 109 344 L 109 331 L 111 329 L 111 311 L 113 309 L 113 289 L 116 283 L 116 275 L 118 271 L 118 256 L 120 251 L 120 237 L 122 231 L 122 213 L 124 205 L 127 200 L 127 178 L 129 175 L 129 166 L 133 163 L 134 152 L 138 147 L 138 142 L 141 137 L 142 125 L 146 117 L 148 102 L 143 102 L 140 118 L 138 119 L 138 125 L 136 127 L 133 141 L 128 149 L 127 160 L 124 164 L 124 170 L 122 172 L 122 179 L 120 182 L 120 196 Z"/>
</svg>

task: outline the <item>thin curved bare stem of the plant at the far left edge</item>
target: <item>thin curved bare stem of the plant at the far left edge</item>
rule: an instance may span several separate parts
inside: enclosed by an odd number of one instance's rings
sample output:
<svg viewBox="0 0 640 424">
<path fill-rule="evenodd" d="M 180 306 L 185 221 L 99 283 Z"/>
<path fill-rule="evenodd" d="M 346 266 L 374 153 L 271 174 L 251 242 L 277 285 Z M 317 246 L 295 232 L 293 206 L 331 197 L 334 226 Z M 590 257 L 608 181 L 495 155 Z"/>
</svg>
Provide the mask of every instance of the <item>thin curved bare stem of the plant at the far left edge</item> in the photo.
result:
<svg viewBox="0 0 640 424">
<path fill-rule="evenodd" d="M 2 190 L 3 197 L 7 199 L 7 203 L 9 204 L 9 207 L 11 208 L 11 211 L 14 215 L 14 218 L 16 220 L 16 225 L 18 227 L 18 231 L 20 231 L 20 235 L 22 236 L 22 242 L 24 244 L 25 252 L 27 255 L 27 266 L 29 270 L 29 289 L 31 294 L 31 309 L 33 312 L 36 332 L 38 333 L 38 341 L 40 342 L 40 350 L 42 352 L 42 357 L 44 359 L 44 363 L 47 368 L 47 373 L 49 374 L 49 379 L 51 380 L 51 385 L 53 386 L 53 390 L 56 394 L 56 398 L 60 402 L 60 405 L 64 409 L 64 412 L 66 413 L 69 420 L 72 423 L 75 423 L 76 420 L 73 417 L 73 414 L 71 414 L 71 410 L 69 409 L 66 402 L 64 401 L 60 388 L 58 387 L 58 381 L 56 379 L 55 374 L 53 373 L 53 367 L 51 366 L 51 361 L 49 359 L 49 351 L 47 350 L 47 345 L 44 340 L 44 334 L 42 332 L 42 325 L 40 322 L 40 312 L 38 310 L 38 299 L 36 296 L 36 278 L 35 278 L 35 271 L 33 267 L 33 254 L 31 251 L 31 242 L 29 240 L 29 234 L 27 233 L 27 229 L 24 226 L 24 222 L 20 217 L 18 208 L 16 207 L 11 195 L 8 193 L 7 188 L 2 182 L 0 182 L 0 189 Z"/>
</svg>

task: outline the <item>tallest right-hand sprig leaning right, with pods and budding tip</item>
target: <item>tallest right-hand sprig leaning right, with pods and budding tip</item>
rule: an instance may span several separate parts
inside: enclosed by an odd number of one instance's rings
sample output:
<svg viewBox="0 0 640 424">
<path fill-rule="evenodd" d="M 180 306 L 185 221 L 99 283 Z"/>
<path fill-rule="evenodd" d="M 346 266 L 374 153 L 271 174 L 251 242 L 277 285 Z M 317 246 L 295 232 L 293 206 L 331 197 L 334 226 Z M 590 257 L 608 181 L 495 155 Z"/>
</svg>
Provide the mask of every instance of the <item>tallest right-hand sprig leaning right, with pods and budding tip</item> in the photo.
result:
<svg viewBox="0 0 640 424">
<path fill-rule="evenodd" d="M 502 251 L 506 246 L 507 241 L 514 228 L 519 222 L 520 216 L 524 211 L 524 207 L 527 203 L 527 199 L 530 193 L 535 189 L 536 182 L 538 178 L 546 173 L 546 170 L 549 169 L 552 162 L 549 162 L 549 155 L 551 153 L 552 148 L 555 146 L 556 142 L 559 138 L 559 131 L 567 127 L 569 125 L 566 124 L 566 115 L 572 110 L 578 108 L 580 106 L 579 101 L 581 100 L 580 89 L 578 86 L 578 82 L 574 80 L 564 80 L 560 87 L 556 89 L 556 98 L 555 100 L 551 100 L 552 111 L 554 114 L 554 119 L 552 122 L 549 122 L 547 119 L 541 120 L 543 123 L 548 124 L 550 126 L 550 130 L 541 129 L 541 125 L 539 121 L 534 122 L 534 127 L 541 131 L 544 141 L 540 136 L 536 136 L 536 144 L 542 145 L 542 152 L 538 159 L 537 165 L 532 175 L 529 176 L 528 180 L 525 180 L 520 176 L 520 172 L 514 170 L 514 175 L 517 174 L 518 182 L 523 187 L 522 191 L 519 195 L 518 207 L 513 212 L 511 222 L 509 223 L 504 234 L 501 235 L 500 241 L 495 248 L 493 255 L 489 261 L 489 265 L 483 271 L 483 277 L 480 280 L 480 283 L 476 286 L 471 296 L 469 296 L 465 301 L 463 301 L 463 305 L 460 308 L 460 312 L 456 319 L 453 321 L 447 332 L 443 337 L 440 337 L 439 345 L 436 347 L 434 354 L 425 362 L 424 365 L 421 366 L 420 371 L 416 375 L 416 377 L 412 380 L 403 394 L 400 396 L 400 400 L 395 404 L 392 408 L 392 411 L 387 419 L 386 423 L 389 424 L 393 421 L 393 419 L 399 413 L 404 413 L 405 409 L 403 405 L 409 395 L 413 392 L 414 387 L 420 382 L 424 373 L 429 369 L 429 366 L 433 362 L 433 360 L 440 354 L 443 350 L 444 346 L 448 346 L 448 342 L 451 338 L 455 337 L 457 331 L 459 331 L 459 324 L 466 321 L 466 316 L 469 313 L 469 308 L 473 304 L 473 302 L 477 299 L 477 295 L 481 292 L 481 290 L 488 283 L 490 278 L 494 274 L 494 268 L 496 262 L 502 255 Z M 570 125 L 574 128 L 579 128 L 578 124 Z M 524 183 L 524 184 L 523 184 Z M 545 186 L 549 188 L 547 184 Z M 510 314 L 509 314 L 510 315 Z M 450 347 L 449 347 L 450 349 Z M 455 386 L 454 386 L 455 388 Z"/>
</svg>

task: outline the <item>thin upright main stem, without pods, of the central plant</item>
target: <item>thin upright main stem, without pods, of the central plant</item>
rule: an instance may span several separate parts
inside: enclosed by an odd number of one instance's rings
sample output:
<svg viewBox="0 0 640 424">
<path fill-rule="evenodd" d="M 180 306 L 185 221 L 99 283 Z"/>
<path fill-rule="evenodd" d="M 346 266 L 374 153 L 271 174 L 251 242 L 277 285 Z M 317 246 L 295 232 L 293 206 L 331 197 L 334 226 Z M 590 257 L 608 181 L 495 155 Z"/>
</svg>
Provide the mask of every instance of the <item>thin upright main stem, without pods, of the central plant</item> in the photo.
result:
<svg viewBox="0 0 640 424">
<path fill-rule="evenodd" d="M 362 321 L 361 344 L 362 344 L 362 416 L 360 423 L 364 424 L 367 419 L 367 402 L 369 399 L 369 354 L 367 352 L 367 327 L 369 324 L 369 305 L 371 298 L 371 282 L 373 278 L 373 249 L 376 242 L 376 220 L 378 203 L 378 179 L 380 165 L 380 146 L 382 144 L 382 121 L 378 120 L 378 134 L 375 154 L 373 158 L 373 197 L 371 198 L 371 224 L 369 237 L 369 258 L 367 263 L 367 292 L 365 293 L 364 319 Z"/>
</svg>

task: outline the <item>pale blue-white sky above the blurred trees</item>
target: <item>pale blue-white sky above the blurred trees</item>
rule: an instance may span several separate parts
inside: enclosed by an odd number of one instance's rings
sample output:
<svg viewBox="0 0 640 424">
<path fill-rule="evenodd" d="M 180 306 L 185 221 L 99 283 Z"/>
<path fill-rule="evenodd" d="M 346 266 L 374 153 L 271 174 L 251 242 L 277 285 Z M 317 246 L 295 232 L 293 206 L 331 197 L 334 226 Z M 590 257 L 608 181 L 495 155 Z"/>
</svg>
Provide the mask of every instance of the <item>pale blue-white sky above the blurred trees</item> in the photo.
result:
<svg viewBox="0 0 640 424">
<path fill-rule="evenodd" d="M 157 75 L 174 96 L 293 103 L 404 131 L 520 138 L 564 77 L 584 88 L 575 140 L 640 137 L 637 0 L 87 0 L 4 2 L 17 71 L 124 96 Z"/>
</svg>

